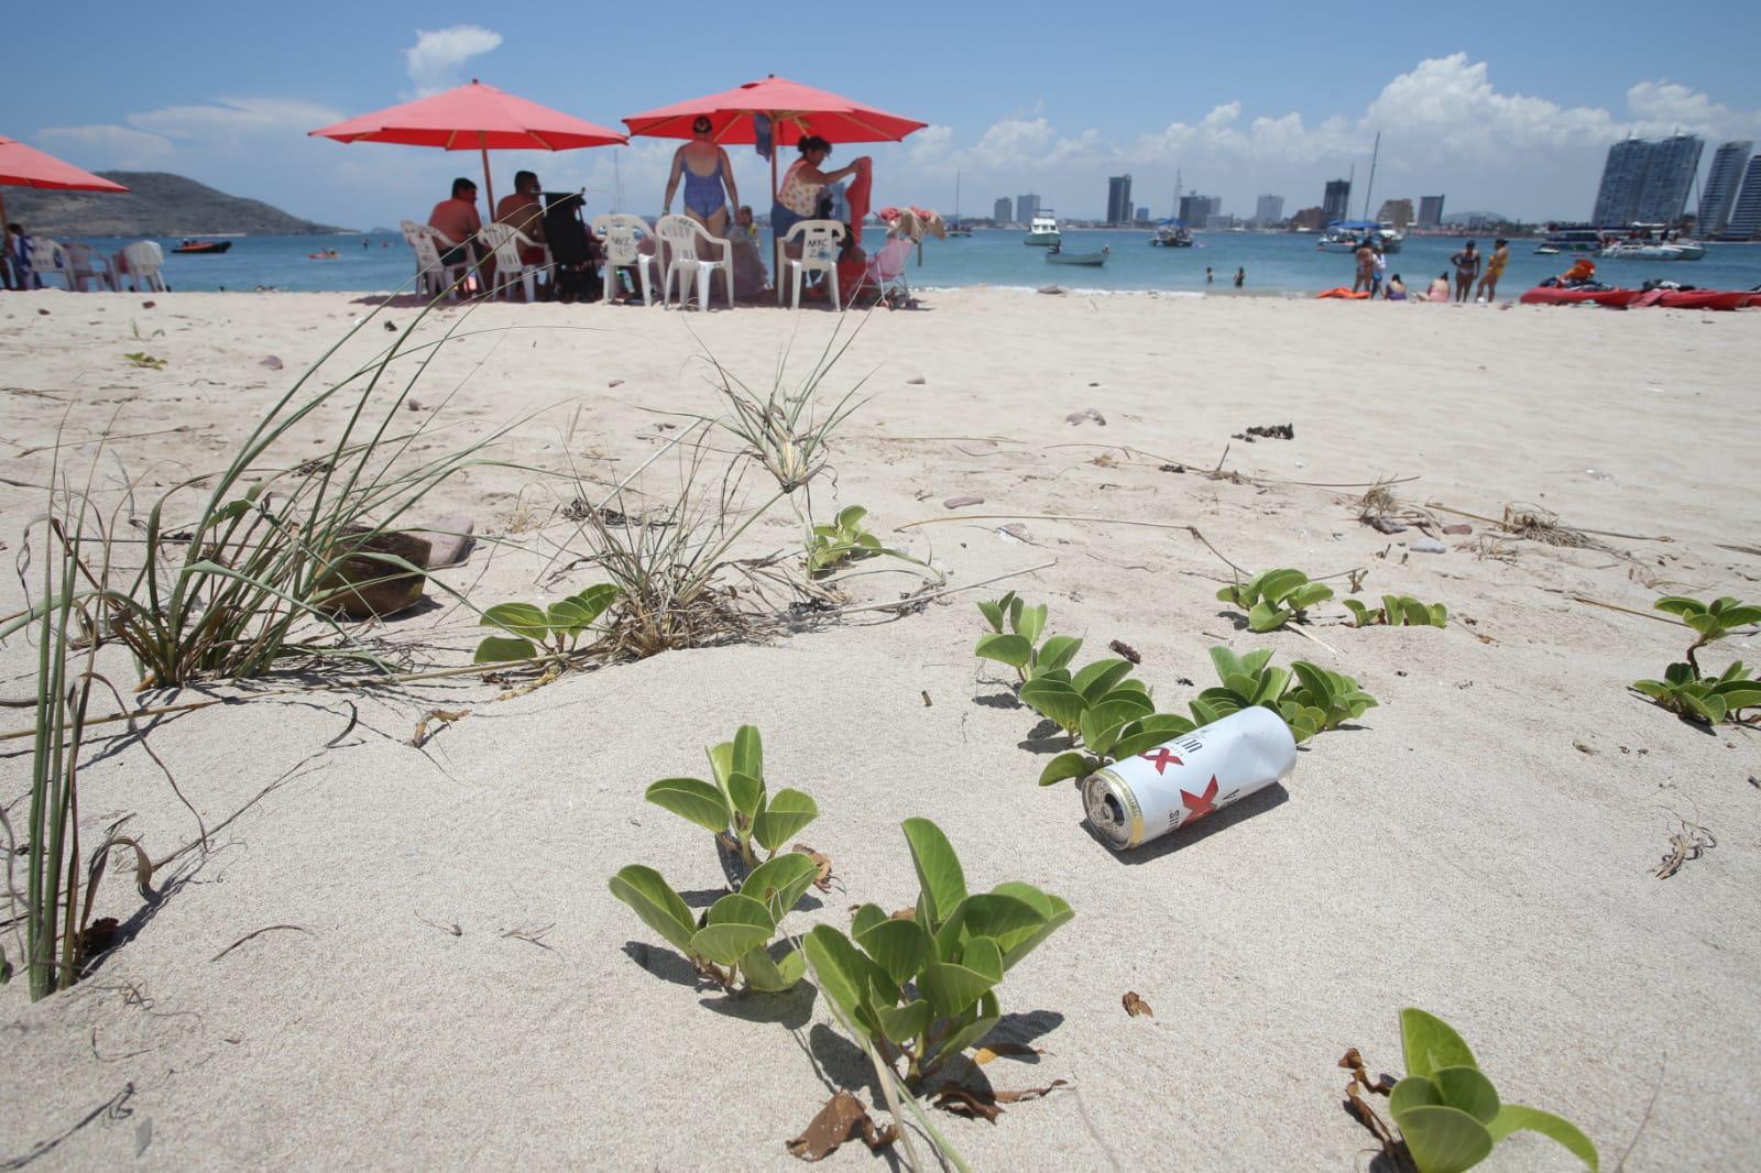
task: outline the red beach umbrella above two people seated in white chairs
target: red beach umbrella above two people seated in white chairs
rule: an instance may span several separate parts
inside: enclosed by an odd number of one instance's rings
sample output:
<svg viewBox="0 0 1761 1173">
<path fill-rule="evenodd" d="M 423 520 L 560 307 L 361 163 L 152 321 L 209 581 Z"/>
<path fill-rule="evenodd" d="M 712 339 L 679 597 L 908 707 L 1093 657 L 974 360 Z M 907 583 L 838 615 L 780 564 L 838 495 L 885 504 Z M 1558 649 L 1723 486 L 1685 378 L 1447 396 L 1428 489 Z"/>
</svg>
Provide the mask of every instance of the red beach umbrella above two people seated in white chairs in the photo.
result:
<svg viewBox="0 0 1761 1173">
<path fill-rule="evenodd" d="M 490 151 L 567 151 L 629 143 L 627 136 L 504 93 L 472 77 L 468 86 L 391 106 L 308 132 L 338 143 L 402 143 L 483 155 L 483 187 L 495 215 Z"/>
</svg>

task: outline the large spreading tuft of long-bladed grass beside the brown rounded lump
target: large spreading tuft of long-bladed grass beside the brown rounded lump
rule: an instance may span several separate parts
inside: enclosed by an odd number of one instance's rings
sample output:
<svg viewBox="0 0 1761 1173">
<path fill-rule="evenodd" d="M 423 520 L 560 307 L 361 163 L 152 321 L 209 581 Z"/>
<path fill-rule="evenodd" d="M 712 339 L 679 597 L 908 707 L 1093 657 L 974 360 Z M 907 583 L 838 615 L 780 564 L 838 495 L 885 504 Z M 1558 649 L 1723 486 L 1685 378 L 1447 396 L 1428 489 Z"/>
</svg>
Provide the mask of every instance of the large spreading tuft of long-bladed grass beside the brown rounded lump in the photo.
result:
<svg viewBox="0 0 1761 1173">
<path fill-rule="evenodd" d="M 402 430 L 405 402 L 458 322 L 440 340 L 412 347 L 417 315 L 372 361 L 336 382 L 321 380 L 329 358 L 377 314 L 347 331 L 276 398 L 224 470 L 192 476 L 153 502 L 143 527 L 143 562 L 127 588 L 109 585 L 83 562 L 77 590 L 102 604 L 100 631 L 134 653 L 143 687 L 257 676 L 296 652 L 379 664 L 331 615 L 338 565 L 349 560 L 384 567 L 379 579 L 354 579 L 356 590 L 426 574 L 400 555 L 375 550 L 377 539 L 437 486 L 490 463 L 481 453 L 507 428 L 472 444 L 442 446 L 438 456 L 414 456 L 438 412 Z M 387 389 L 391 365 L 400 358 L 417 359 L 416 370 Z M 329 405 L 345 412 L 329 447 L 317 458 L 291 460 L 301 428 Z M 174 523 L 195 493 L 194 516 Z M 100 548 L 107 557 L 109 542 Z M 106 585 L 93 585 L 100 579 Z M 51 604 L 42 601 L 39 608 Z M 32 611 L 0 636 L 37 618 Z M 308 631 L 322 641 L 306 638 Z"/>
</svg>

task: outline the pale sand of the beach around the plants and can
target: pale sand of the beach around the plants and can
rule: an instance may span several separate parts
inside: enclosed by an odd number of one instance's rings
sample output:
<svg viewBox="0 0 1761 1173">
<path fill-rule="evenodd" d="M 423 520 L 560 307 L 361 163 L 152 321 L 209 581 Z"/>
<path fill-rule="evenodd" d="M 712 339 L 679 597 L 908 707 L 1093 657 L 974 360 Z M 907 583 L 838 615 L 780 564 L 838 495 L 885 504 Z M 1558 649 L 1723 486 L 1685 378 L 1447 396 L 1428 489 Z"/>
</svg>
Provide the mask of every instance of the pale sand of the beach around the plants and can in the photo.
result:
<svg viewBox="0 0 1761 1173">
<path fill-rule="evenodd" d="M 1761 741 L 1689 726 L 1627 685 L 1692 639 L 1655 597 L 1761 599 L 1761 312 L 997 289 L 925 306 L 861 319 L 829 375 L 826 393 L 866 377 L 872 398 L 833 435 L 815 516 L 868 507 L 870 528 L 944 567 L 947 586 L 1043 569 L 509 699 L 460 675 L 143 720 L 210 849 L 155 877 L 144 918 L 118 856 L 95 914 L 134 918 L 127 942 L 41 1002 L 21 979 L 0 990 L 0 1159 L 60 1138 L 32 1168 L 798 1168 L 784 1141 L 831 1090 L 884 1122 L 873 1073 L 810 981 L 729 997 L 608 891 L 648 863 L 694 907 L 713 898 L 708 833 L 643 789 L 706 777 L 703 749 L 750 722 L 770 786 L 819 801 L 799 840 L 835 863 L 794 932 L 916 898 L 909 815 L 940 824 L 974 889 L 1027 881 L 1076 911 L 998 986 L 993 1037 L 1044 1053 L 983 1067 L 1002 1090 L 1065 1087 L 995 1124 L 933 1113 L 972 1168 L 1370 1168 L 1337 1062 L 1358 1046 L 1372 1073 L 1398 1074 L 1404 1006 L 1455 1025 L 1502 1097 L 1578 1124 L 1604 1169 L 1752 1162 Z M 25 528 L 56 451 L 83 479 L 109 432 L 93 491 L 114 505 L 132 486 L 144 513 L 224 467 L 370 310 L 354 294 L 0 298 L 0 553 L 28 550 L 32 597 L 46 551 Z M 836 324 L 822 310 L 435 312 L 419 340 L 460 329 L 421 377 L 423 410 L 400 419 L 431 419 L 430 446 L 516 424 L 495 449 L 507 467 L 467 470 L 416 518 L 475 523 L 468 562 L 438 578 L 477 606 L 601 581 L 590 565 L 551 574 L 585 553 L 562 474 L 615 481 L 680 414 L 718 412 L 704 352 L 763 387 L 784 349 L 805 370 Z M 391 336 L 368 322 L 345 356 Z M 301 444 L 324 453 L 347 410 L 315 412 Z M 1293 440 L 1231 439 L 1282 423 Z M 676 451 L 645 474 L 657 500 Z M 1219 467 L 1242 477 L 1206 476 Z M 1472 530 L 1416 553 L 1419 530 L 1359 523 L 1352 502 L 1382 477 L 1411 477 L 1391 486 L 1402 502 Z M 748 472 L 740 500 L 768 488 Z M 944 505 L 956 497 L 983 504 Z M 1509 504 L 1592 544 L 1463 516 Z M 898 528 L 919 520 L 935 523 Z M 1444 602 L 1449 625 L 1359 631 L 1333 601 L 1307 634 L 1238 631 L 1215 599 L 1231 571 L 1187 527 L 1249 571 L 1365 569 L 1361 599 Z M 798 546 L 778 509 L 738 550 Z M 873 558 L 842 585 L 865 604 L 919 583 Z M 1330 585 L 1345 595 L 1345 578 Z M 1349 673 L 1381 705 L 1307 741 L 1284 786 L 1115 854 L 1071 784 L 1035 786 L 1062 740 L 1032 738 L 1007 669 L 972 655 L 974 602 L 1011 588 L 1048 602 L 1050 631 L 1081 636 L 1083 659 L 1132 646 L 1175 712 L 1213 683 L 1212 645 Z M 0 611 L 25 606 L 5 576 Z M 484 631 L 442 595 L 363 638 L 423 669 L 467 664 Z M 1761 639 L 1703 659 L 1756 662 Z M 291 683 L 136 697 L 123 652 L 100 668 L 130 703 Z M 35 671 L 35 639 L 9 638 L 0 696 L 28 701 Z M 437 708 L 468 715 L 409 745 Z M 93 713 L 113 710 L 93 694 Z M 28 706 L 0 713 L 30 727 Z M 88 731 L 83 844 L 127 815 L 160 858 L 195 819 L 123 729 Z M 0 741 L 14 828 L 28 791 L 30 738 Z M 1657 879 L 1682 821 L 1715 845 Z M 16 946 L 9 928 L 14 963 Z M 1127 1016 L 1125 992 L 1153 1018 Z M 852 1141 L 829 1164 L 879 1159 Z M 1516 1134 L 1483 1168 L 1581 1166 Z"/>
</svg>

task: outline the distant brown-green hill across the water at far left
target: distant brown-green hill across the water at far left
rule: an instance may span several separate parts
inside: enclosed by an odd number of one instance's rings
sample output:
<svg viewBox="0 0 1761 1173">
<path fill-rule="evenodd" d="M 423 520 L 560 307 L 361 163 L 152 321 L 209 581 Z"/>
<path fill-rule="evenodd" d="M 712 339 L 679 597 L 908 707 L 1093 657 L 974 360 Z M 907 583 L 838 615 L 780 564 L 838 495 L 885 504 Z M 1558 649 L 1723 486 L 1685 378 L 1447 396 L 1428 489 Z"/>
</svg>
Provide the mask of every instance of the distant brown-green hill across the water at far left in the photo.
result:
<svg viewBox="0 0 1761 1173">
<path fill-rule="evenodd" d="M 329 224 L 291 217 L 164 171 L 100 171 L 127 192 L 5 190 L 7 218 L 44 236 L 203 236 L 204 232 L 317 234 Z"/>
</svg>

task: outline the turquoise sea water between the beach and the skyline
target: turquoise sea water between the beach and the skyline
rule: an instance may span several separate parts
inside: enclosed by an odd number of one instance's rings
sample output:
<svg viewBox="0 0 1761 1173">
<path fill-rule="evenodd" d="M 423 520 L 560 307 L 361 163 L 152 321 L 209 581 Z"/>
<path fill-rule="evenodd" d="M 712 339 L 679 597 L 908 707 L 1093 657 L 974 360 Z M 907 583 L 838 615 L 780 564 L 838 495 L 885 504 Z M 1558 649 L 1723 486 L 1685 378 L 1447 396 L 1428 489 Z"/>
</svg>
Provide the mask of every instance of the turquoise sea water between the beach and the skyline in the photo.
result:
<svg viewBox="0 0 1761 1173">
<path fill-rule="evenodd" d="M 868 229 L 870 243 L 879 229 Z M 1157 289 L 1168 292 L 1233 292 L 1236 268 L 1247 269 L 1247 292 L 1317 292 L 1351 285 L 1349 254 L 1319 252 L 1314 236 L 1284 232 L 1199 232 L 1194 248 L 1152 248 L 1146 232 L 1067 231 L 1067 252 L 1097 252 L 1111 247 L 1108 264 L 1099 269 L 1048 264 L 1046 250 L 1021 243 L 1014 229 L 979 229 L 965 240 L 930 240 L 923 247 L 923 266 L 912 262 L 914 285 L 1009 285 L 1034 289 L 1057 282 L 1072 289 Z M 166 280 L 173 289 L 248 291 L 259 285 L 289 291 L 391 291 L 410 280 L 414 259 L 402 236 L 241 236 L 224 255 L 180 257 L 171 254 L 178 241 L 160 240 L 166 248 Z M 93 248 L 118 252 L 125 240 L 86 238 Z M 1490 240 L 1481 240 L 1488 250 Z M 1458 238 L 1412 238 L 1389 254 L 1389 273 L 1405 277 L 1409 287 L 1425 285 L 1449 268 L 1449 254 L 1462 247 Z M 1511 245 L 1511 264 L 1499 285 L 1499 298 L 1509 299 L 1560 273 L 1569 257 L 1537 257 L 1536 241 Z M 306 254 L 335 248 L 335 261 L 308 259 Z M 1206 285 L 1205 269 L 1215 273 Z M 1761 245 L 1710 245 L 1705 261 L 1599 261 L 1599 275 L 1611 285 L 1641 285 L 1647 278 L 1671 278 L 1703 289 L 1750 289 L 1761 284 Z"/>
</svg>

